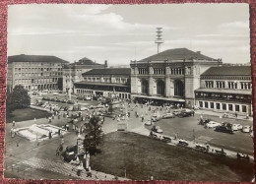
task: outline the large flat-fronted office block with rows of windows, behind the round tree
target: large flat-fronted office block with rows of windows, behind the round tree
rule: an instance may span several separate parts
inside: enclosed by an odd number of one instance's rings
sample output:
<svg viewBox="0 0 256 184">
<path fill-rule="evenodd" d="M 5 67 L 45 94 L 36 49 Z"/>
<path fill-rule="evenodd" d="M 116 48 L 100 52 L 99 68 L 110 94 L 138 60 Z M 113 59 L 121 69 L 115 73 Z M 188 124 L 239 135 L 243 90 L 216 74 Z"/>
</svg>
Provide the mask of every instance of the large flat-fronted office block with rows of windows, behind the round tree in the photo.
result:
<svg viewBox="0 0 256 184">
<path fill-rule="evenodd" d="M 65 63 L 68 62 L 55 56 L 9 56 L 7 88 L 12 91 L 16 85 L 23 85 L 28 91 L 57 90 Z"/>
</svg>

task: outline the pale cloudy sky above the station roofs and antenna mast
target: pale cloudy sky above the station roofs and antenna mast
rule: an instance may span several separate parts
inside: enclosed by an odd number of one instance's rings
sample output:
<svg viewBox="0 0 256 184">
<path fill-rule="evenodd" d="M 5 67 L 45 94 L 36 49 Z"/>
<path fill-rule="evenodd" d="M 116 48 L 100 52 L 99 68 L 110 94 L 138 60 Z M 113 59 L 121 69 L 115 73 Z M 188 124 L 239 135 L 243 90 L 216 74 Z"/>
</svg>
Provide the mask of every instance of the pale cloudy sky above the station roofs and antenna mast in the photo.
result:
<svg viewBox="0 0 256 184">
<path fill-rule="evenodd" d="M 158 27 L 160 51 L 185 47 L 224 63 L 250 62 L 247 4 L 11 5 L 8 56 L 129 65 L 158 53 Z"/>
</svg>

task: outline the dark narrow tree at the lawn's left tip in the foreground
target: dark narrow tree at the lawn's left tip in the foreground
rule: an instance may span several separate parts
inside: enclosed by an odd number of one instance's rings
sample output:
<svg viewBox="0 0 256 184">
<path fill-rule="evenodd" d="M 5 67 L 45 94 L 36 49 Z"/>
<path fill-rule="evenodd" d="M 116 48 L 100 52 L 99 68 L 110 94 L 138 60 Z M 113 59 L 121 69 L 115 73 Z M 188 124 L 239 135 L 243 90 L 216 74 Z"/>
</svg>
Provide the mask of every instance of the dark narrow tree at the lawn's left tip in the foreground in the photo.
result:
<svg viewBox="0 0 256 184">
<path fill-rule="evenodd" d="M 99 117 L 93 116 L 86 125 L 86 136 L 84 140 L 86 152 L 90 154 L 100 152 L 97 146 L 100 145 L 102 141 L 102 133 Z"/>
</svg>

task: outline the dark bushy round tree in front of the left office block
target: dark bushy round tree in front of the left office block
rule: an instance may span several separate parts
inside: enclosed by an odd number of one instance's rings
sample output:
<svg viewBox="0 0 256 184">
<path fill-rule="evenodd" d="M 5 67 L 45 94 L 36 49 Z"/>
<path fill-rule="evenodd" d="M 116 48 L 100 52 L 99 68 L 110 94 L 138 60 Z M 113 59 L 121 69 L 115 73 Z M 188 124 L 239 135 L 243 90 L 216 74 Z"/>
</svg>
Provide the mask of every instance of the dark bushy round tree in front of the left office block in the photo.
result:
<svg viewBox="0 0 256 184">
<path fill-rule="evenodd" d="M 27 108 L 31 105 L 31 96 L 23 86 L 18 85 L 13 92 L 6 94 L 6 112 L 10 114 L 15 109 Z"/>
</svg>

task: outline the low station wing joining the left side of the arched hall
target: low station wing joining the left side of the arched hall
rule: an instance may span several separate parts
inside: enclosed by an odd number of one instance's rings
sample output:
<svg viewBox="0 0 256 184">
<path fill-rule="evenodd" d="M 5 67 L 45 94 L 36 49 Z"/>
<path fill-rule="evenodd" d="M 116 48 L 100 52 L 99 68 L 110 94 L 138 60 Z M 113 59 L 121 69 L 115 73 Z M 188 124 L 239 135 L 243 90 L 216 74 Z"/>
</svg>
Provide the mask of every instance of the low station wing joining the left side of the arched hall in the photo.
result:
<svg viewBox="0 0 256 184">
<path fill-rule="evenodd" d="M 94 69 L 83 74 L 84 81 L 74 84 L 75 93 L 130 98 L 130 76 L 130 68 Z"/>
</svg>

